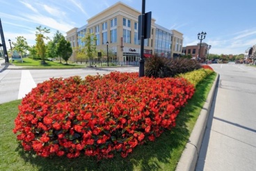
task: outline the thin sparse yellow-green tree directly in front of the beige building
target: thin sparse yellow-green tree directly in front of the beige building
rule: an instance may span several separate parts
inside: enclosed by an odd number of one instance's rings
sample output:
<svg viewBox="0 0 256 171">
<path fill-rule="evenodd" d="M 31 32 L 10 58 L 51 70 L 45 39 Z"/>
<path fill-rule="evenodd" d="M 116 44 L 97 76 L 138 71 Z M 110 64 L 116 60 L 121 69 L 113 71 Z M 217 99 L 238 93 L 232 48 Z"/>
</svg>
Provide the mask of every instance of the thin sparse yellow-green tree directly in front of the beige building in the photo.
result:
<svg viewBox="0 0 256 171">
<path fill-rule="evenodd" d="M 89 58 L 90 66 L 92 65 L 93 56 L 96 54 L 96 35 L 95 33 L 86 32 L 84 38 L 81 38 L 82 42 L 85 42 L 85 46 L 82 47 L 81 51 L 86 53 L 86 56 Z"/>
</svg>

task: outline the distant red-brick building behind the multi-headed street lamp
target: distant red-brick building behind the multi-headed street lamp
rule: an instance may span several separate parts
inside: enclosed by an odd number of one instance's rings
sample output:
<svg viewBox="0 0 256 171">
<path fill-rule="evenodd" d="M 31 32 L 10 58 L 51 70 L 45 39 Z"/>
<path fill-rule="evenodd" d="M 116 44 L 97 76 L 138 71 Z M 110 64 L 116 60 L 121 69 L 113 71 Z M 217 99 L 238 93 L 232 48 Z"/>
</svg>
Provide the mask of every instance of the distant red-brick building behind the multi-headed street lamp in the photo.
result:
<svg viewBox="0 0 256 171">
<path fill-rule="evenodd" d="M 205 61 L 208 53 L 207 47 L 208 44 L 205 42 L 202 42 L 201 50 L 200 43 L 197 45 L 189 45 L 182 48 L 182 53 L 186 56 L 191 56 L 193 59 L 198 59 L 200 57 L 200 60 Z"/>
</svg>

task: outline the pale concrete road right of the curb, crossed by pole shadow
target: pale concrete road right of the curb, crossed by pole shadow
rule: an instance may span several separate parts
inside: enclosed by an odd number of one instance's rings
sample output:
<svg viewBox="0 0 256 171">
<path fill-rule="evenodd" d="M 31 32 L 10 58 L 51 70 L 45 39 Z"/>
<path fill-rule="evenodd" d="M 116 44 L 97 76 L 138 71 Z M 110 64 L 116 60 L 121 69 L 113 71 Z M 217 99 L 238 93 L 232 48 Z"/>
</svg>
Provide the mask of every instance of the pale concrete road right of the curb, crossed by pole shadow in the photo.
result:
<svg viewBox="0 0 256 171">
<path fill-rule="evenodd" d="M 256 170 L 256 68 L 211 67 L 220 80 L 196 170 Z"/>
</svg>

